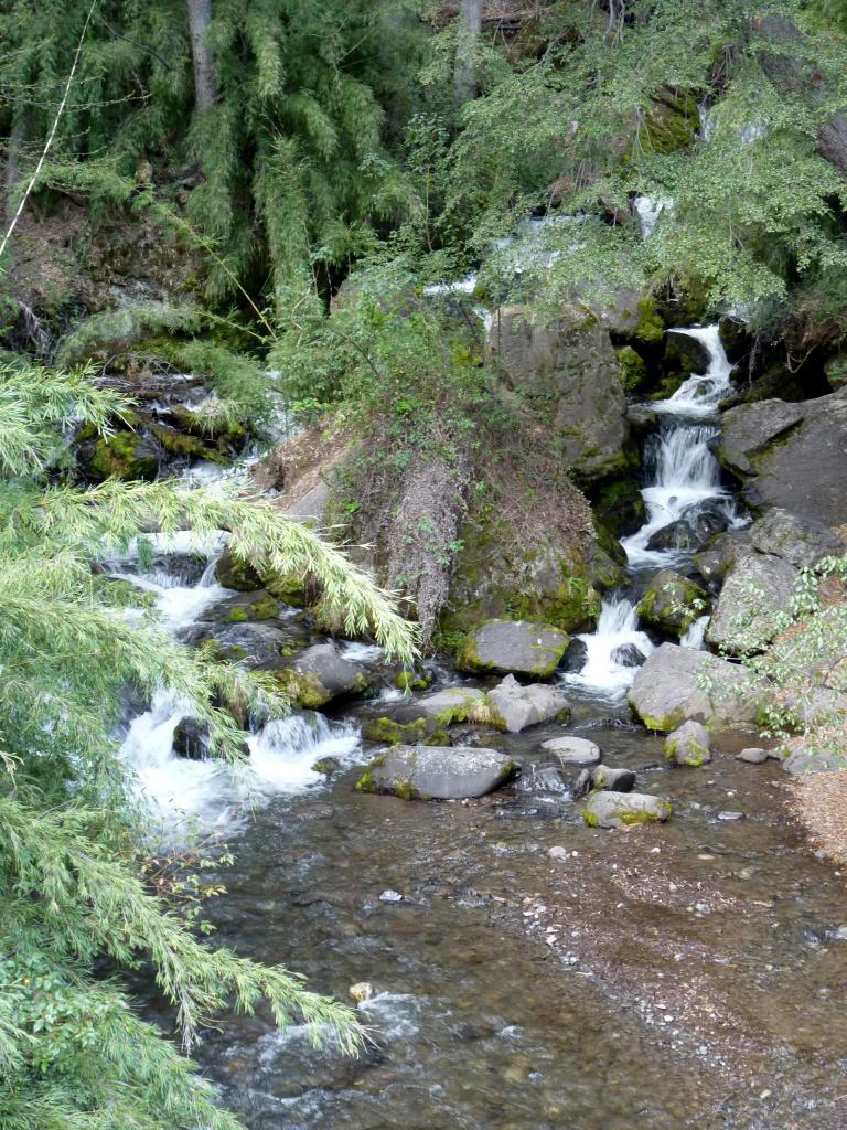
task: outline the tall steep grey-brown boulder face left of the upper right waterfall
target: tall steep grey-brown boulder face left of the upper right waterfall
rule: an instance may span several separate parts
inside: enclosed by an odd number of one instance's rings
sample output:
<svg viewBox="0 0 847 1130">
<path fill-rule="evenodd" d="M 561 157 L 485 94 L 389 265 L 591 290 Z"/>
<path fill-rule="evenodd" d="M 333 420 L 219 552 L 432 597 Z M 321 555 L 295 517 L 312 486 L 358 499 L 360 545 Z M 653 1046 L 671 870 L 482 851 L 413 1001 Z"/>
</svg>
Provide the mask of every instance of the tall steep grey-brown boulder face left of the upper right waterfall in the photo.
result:
<svg viewBox="0 0 847 1130">
<path fill-rule="evenodd" d="M 626 393 L 606 329 L 584 314 L 548 323 L 525 306 L 504 306 L 489 340 L 509 386 L 549 416 L 579 481 L 628 469 Z"/>
</svg>

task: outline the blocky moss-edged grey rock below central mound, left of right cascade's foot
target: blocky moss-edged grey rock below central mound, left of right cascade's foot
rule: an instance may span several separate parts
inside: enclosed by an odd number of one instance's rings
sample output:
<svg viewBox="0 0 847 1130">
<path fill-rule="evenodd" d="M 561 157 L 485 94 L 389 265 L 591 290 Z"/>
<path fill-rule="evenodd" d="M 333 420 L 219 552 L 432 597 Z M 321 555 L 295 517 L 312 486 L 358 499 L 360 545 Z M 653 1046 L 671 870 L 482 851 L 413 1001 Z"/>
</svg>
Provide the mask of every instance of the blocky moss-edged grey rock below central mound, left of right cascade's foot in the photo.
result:
<svg viewBox="0 0 847 1130">
<path fill-rule="evenodd" d="M 518 671 L 548 679 L 568 646 L 567 633 L 530 620 L 488 620 L 470 632 L 459 649 L 461 671 Z"/>
</svg>

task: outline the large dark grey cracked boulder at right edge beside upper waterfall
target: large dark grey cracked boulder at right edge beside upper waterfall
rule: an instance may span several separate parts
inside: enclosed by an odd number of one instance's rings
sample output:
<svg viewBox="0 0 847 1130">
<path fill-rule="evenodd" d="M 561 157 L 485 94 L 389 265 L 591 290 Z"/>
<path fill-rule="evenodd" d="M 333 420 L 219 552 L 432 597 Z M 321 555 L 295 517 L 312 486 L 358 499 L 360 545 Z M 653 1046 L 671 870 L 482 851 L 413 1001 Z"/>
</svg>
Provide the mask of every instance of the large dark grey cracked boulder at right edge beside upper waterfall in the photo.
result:
<svg viewBox="0 0 847 1130">
<path fill-rule="evenodd" d="M 763 400 L 724 415 L 722 461 L 758 507 L 779 506 L 827 527 L 847 522 L 847 388 L 789 405 Z"/>
</svg>

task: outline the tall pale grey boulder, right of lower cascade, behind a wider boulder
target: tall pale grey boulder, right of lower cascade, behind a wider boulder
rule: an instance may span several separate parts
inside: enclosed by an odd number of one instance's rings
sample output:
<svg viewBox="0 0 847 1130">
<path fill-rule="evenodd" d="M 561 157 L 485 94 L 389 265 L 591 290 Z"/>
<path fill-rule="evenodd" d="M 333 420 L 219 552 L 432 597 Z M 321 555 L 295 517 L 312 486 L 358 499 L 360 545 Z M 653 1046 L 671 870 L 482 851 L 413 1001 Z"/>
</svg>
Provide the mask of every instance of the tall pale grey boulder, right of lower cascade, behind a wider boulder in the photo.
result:
<svg viewBox="0 0 847 1130">
<path fill-rule="evenodd" d="M 706 640 L 740 652 L 766 644 L 794 597 L 797 571 L 771 555 L 754 554 L 730 571 L 715 605 Z"/>
</svg>

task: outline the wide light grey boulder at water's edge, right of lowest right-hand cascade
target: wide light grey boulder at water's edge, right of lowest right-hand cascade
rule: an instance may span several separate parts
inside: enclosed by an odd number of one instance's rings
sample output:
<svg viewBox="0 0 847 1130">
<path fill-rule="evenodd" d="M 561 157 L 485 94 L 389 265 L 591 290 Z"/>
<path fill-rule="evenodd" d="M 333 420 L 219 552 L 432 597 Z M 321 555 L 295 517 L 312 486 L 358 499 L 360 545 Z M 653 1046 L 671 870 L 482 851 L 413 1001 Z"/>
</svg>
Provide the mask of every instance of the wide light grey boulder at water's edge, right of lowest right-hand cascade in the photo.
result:
<svg viewBox="0 0 847 1130">
<path fill-rule="evenodd" d="M 629 688 L 629 705 L 662 733 L 687 719 L 717 730 L 746 725 L 756 721 L 761 698 L 745 668 L 673 643 L 653 652 Z"/>
</svg>

